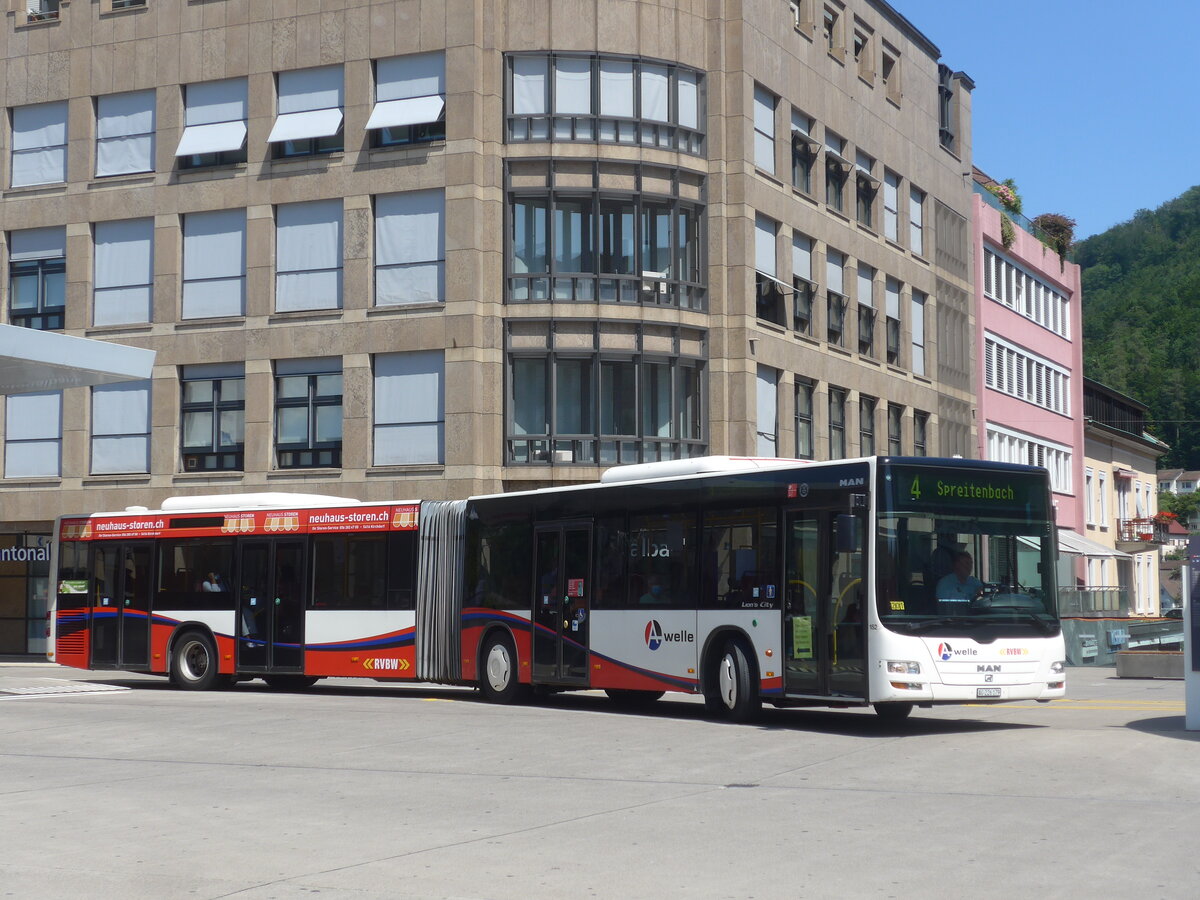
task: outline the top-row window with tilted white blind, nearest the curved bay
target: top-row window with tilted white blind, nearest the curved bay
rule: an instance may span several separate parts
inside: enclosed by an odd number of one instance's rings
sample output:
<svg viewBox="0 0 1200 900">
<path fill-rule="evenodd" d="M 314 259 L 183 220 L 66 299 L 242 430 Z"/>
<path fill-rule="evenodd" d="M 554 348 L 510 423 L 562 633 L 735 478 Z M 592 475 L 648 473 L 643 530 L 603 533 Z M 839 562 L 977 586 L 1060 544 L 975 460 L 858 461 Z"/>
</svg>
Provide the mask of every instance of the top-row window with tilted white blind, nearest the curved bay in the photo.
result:
<svg viewBox="0 0 1200 900">
<path fill-rule="evenodd" d="M 445 54 L 416 53 L 376 62 L 372 146 L 401 146 L 446 136 Z"/>
</svg>

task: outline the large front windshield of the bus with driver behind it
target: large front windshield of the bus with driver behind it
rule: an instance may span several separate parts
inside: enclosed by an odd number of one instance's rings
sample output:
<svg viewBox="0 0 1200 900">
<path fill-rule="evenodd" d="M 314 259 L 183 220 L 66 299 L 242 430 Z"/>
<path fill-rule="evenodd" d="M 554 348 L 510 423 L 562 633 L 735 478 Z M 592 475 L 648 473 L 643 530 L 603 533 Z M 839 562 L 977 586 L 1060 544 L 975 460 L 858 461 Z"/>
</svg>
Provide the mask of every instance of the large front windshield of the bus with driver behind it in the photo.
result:
<svg viewBox="0 0 1200 900">
<path fill-rule="evenodd" d="M 880 515 L 876 564 L 886 628 L 980 640 L 1058 632 L 1052 524 L 1044 515 L 1003 504 L 889 505 Z"/>
</svg>

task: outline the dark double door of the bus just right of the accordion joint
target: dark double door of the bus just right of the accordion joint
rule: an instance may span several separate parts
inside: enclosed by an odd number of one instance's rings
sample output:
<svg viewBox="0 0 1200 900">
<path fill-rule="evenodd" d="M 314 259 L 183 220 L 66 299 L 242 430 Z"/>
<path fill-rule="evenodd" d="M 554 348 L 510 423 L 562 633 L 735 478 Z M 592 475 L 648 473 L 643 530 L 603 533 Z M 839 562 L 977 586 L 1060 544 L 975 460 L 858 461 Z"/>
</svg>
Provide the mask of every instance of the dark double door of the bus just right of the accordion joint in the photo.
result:
<svg viewBox="0 0 1200 900">
<path fill-rule="evenodd" d="M 592 527 L 542 527 L 534 542 L 533 682 L 586 685 Z"/>
</svg>

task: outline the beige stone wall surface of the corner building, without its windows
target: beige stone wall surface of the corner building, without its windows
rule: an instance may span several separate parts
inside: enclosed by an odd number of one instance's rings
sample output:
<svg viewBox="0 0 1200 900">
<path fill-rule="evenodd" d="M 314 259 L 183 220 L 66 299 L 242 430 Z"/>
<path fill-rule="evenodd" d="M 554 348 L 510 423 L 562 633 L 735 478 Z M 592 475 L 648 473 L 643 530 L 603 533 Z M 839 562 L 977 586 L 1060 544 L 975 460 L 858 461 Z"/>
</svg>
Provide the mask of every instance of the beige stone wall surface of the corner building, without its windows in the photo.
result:
<svg viewBox="0 0 1200 900">
<path fill-rule="evenodd" d="M 816 458 L 857 456 L 870 449 L 868 440 L 875 452 L 888 452 L 889 425 L 899 440 L 892 449 L 904 454 L 972 455 L 974 263 L 965 175 L 971 172 L 971 84 L 961 73 L 940 71 L 937 49 L 887 2 L 146 0 L 118 6 L 64 0 L 56 18 L 30 20 L 28 5 L 13 2 L 2 20 L 0 107 L 10 115 L 0 172 L 0 266 L 6 272 L 0 296 L 11 316 L 12 234 L 64 227 L 65 332 L 157 352 L 148 470 L 92 474 L 97 424 L 90 421 L 91 397 L 88 389 L 67 390 L 59 474 L 12 476 L 6 470 L 0 530 L 44 530 L 58 515 L 155 508 L 184 493 L 439 499 L 594 480 L 616 458 L 606 454 L 646 452 L 638 442 L 652 419 L 661 419 L 654 434 L 662 437 L 655 450 L 662 455 L 756 454 L 766 440 L 768 452 L 793 456 L 804 452 L 798 425 Z M 374 62 L 427 53 L 444 54 L 444 138 L 374 146 L 366 127 L 377 101 Z M 534 127 L 536 118 L 515 103 L 515 60 L 522 54 L 551 59 L 551 53 L 590 66 L 589 90 L 600 106 L 590 109 L 590 119 L 572 121 L 576 128 L 594 126 L 592 134 L 607 127 L 592 121 L 607 102 L 596 100 L 604 61 L 638 72 L 637 121 L 624 124 L 642 137 L 630 143 L 576 133 L 550 140 L 530 131 L 533 138 L 514 139 L 511 128 Z M 547 65 L 547 82 L 553 82 L 557 64 Z M 344 148 L 276 158 L 268 137 L 277 116 L 278 76 L 324 66 L 342 67 Z M 182 167 L 175 152 L 188 124 L 187 86 L 233 78 L 246 79 L 246 161 Z M 652 112 L 659 78 L 671 91 L 678 88 L 670 104 L 662 101 L 664 109 L 670 106 L 667 125 Z M 692 88 L 700 113 L 689 125 L 684 108 L 692 101 L 684 97 Z M 95 176 L 98 98 L 150 90 L 154 170 Z M 769 160 L 756 156 L 756 140 L 766 146 L 764 133 L 756 131 L 756 95 L 772 98 Z M 20 150 L 13 110 L 64 101 L 65 181 L 13 187 L 13 155 Z M 550 128 L 559 127 L 554 112 L 546 113 Z M 806 138 L 793 134 L 797 124 L 805 126 Z M 841 142 L 836 154 L 828 145 L 835 139 Z M 809 160 L 810 184 L 797 186 L 796 154 Z M 826 187 L 838 172 L 846 181 L 840 203 Z M 443 296 L 377 305 L 377 199 L 426 190 L 444 197 Z M 698 228 L 698 265 L 671 276 L 670 290 L 679 293 L 656 293 L 667 290 L 666 282 L 647 281 L 655 272 L 643 265 L 623 270 L 636 295 L 630 302 L 598 302 L 599 293 L 564 301 L 554 292 L 566 288 L 558 287 L 562 280 L 553 272 L 545 282 L 548 295 L 539 296 L 541 288 L 530 282 L 534 293 L 517 302 L 512 198 L 552 191 L 556 198 L 587 193 L 589 203 L 617 196 L 643 204 L 637 208 L 642 238 L 646 223 L 659 215 L 653 210 L 670 208 L 672 252 L 695 251 L 683 246 L 683 232 Z M 660 206 L 644 205 L 650 197 L 661 198 L 654 202 Z M 865 203 L 856 205 L 859 198 Z M 329 199 L 342 203 L 340 302 L 280 311 L 278 210 Z M 246 211 L 245 314 L 185 318 L 184 220 L 235 209 Z M 554 206 L 554 216 L 560 209 Z M 688 224 L 685 216 L 692 216 Z M 149 322 L 96 325 L 96 227 L 131 218 L 154 222 L 152 313 Z M 756 223 L 762 221 L 775 228 L 778 265 L 769 275 L 779 282 L 779 314 L 761 304 Z M 558 224 L 547 226 L 546 235 Z M 811 334 L 796 328 L 797 240 L 810 241 Z M 841 347 L 830 340 L 828 322 L 832 251 L 844 254 Z M 653 252 L 649 245 L 643 251 Z M 574 290 L 606 290 L 606 264 L 595 278 L 576 277 Z M 858 287 L 868 277 L 872 312 L 859 316 Z M 766 284 L 769 292 L 772 283 Z M 913 306 L 914 292 L 924 300 L 922 311 Z M 676 300 L 665 302 L 667 296 Z M 889 353 L 893 306 L 898 328 Z M 912 325 L 922 312 L 918 335 Z M 870 341 L 859 334 L 859 322 L 872 329 Z M 518 347 L 534 332 L 546 335 L 538 338 L 541 344 Z M 571 344 L 572 334 L 586 336 Z M 437 382 L 440 419 L 428 426 L 440 428 L 439 452 L 421 462 L 377 466 L 377 359 L 420 350 L 444 354 Z M 588 415 L 595 421 L 582 438 L 521 438 L 528 430 L 514 426 L 512 360 L 522 353 L 553 356 L 546 371 L 557 386 L 542 403 L 550 407 L 565 403 L 566 376 L 553 368 L 557 361 L 572 353 L 590 360 L 599 376 L 580 396 L 593 398 L 587 404 L 594 401 Z M 341 360 L 340 466 L 278 466 L 277 366 L 298 358 Z M 611 389 L 616 400 L 601 396 L 610 372 L 604 365 L 628 359 L 637 366 L 640 402 L 622 397 L 619 386 Z M 181 367 L 202 364 L 244 366 L 240 469 L 184 468 Z M 673 386 L 655 418 L 652 407 L 660 401 L 650 395 L 650 380 L 659 372 Z M 803 421 L 798 384 L 811 385 L 811 416 Z M 844 391 L 841 454 L 830 438 L 830 388 Z M 871 400 L 874 422 L 864 424 L 859 415 Z M 631 402 L 637 425 L 606 427 L 610 408 Z M 696 409 L 684 408 L 692 402 Z M 568 412 L 559 408 L 558 424 L 547 431 L 575 431 L 564 428 Z M 605 440 L 608 431 L 618 439 Z"/>
</svg>

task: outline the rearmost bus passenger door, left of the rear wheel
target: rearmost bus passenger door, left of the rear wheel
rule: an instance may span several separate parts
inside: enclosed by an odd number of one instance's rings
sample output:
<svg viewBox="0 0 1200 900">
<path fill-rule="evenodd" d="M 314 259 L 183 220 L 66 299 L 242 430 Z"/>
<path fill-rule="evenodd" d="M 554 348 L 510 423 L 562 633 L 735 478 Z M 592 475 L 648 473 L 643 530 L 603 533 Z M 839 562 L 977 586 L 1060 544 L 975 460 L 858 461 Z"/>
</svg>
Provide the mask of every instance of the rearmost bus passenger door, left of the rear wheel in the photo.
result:
<svg viewBox="0 0 1200 900">
<path fill-rule="evenodd" d="M 98 545 L 92 556 L 91 666 L 150 665 L 150 545 Z"/>
</svg>

